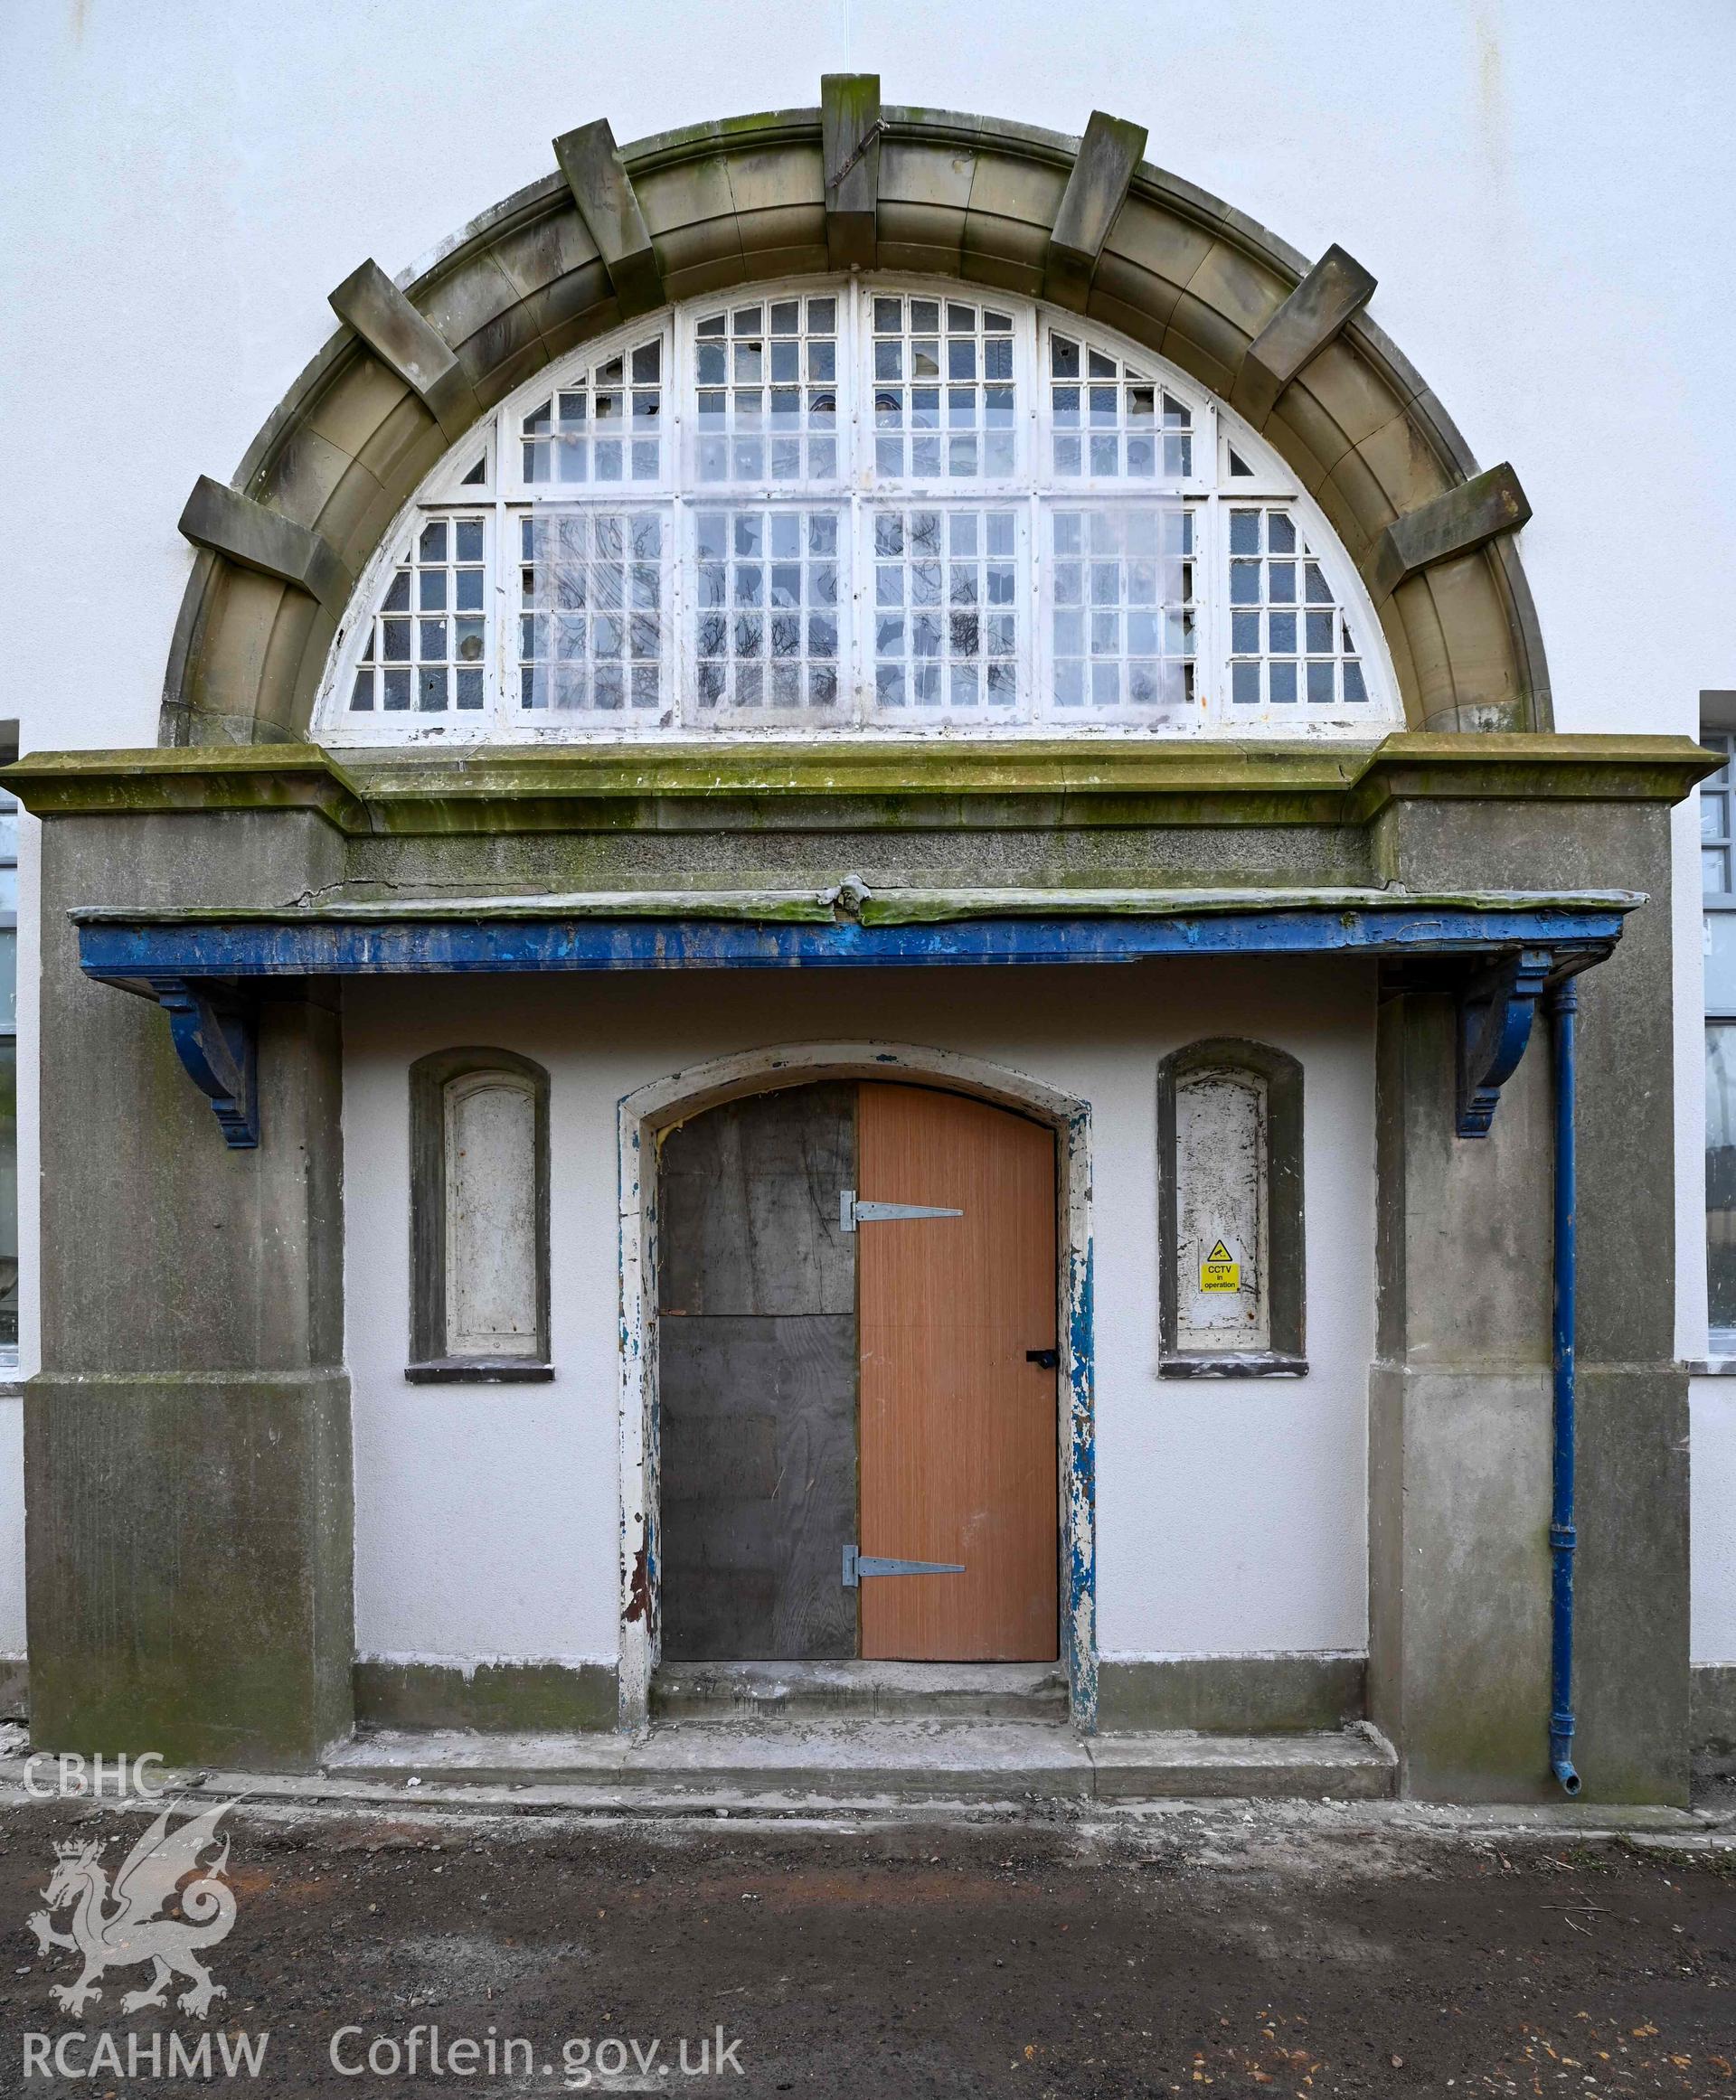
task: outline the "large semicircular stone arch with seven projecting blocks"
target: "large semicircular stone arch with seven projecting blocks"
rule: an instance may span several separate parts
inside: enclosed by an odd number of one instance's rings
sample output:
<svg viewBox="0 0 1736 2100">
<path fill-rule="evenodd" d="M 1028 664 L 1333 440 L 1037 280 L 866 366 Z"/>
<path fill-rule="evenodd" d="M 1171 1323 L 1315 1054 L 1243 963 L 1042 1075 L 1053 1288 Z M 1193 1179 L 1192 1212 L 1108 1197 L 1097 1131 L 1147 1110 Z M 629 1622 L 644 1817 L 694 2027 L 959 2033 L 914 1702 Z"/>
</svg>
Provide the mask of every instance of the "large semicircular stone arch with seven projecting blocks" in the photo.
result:
<svg viewBox="0 0 1736 2100">
<path fill-rule="evenodd" d="M 615 147 L 472 220 L 418 277 L 365 262 L 233 483 L 199 481 L 199 548 L 170 653 L 162 743 L 304 741 L 355 580 L 451 443 L 514 386 L 640 311 L 850 265 L 951 275 L 1089 313 L 1228 399 L 1318 500 L 1379 609 L 1413 729 L 1549 729 L 1549 680 L 1507 466 L 1478 472 L 1421 376 L 1362 311 L 1373 279 L 1316 265 L 1138 155 L 880 105 L 831 76 L 819 109 Z"/>
</svg>

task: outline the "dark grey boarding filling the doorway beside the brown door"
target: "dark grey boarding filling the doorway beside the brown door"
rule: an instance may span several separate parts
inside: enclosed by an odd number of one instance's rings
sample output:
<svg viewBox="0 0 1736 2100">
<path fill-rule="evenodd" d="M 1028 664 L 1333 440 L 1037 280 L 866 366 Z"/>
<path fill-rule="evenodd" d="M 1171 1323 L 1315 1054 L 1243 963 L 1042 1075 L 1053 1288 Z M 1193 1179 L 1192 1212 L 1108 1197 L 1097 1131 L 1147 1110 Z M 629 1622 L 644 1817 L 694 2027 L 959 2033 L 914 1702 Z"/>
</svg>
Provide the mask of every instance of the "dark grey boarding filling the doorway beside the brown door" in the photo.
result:
<svg viewBox="0 0 1736 2100">
<path fill-rule="evenodd" d="M 856 1653 L 854 1086 L 758 1094 L 661 1149 L 663 1655 Z"/>
</svg>

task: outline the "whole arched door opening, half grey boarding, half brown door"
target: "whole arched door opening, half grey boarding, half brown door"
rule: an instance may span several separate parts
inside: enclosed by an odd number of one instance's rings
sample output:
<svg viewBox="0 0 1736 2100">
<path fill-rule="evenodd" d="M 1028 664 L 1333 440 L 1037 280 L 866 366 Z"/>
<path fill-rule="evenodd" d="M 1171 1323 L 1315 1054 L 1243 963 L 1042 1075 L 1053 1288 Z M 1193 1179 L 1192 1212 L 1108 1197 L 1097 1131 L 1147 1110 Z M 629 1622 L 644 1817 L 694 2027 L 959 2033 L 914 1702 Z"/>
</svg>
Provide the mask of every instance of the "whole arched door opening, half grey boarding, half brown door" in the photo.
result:
<svg viewBox="0 0 1736 2100">
<path fill-rule="evenodd" d="M 1054 1661 L 1054 1130 L 829 1079 L 659 1157 L 668 1661 Z"/>
</svg>

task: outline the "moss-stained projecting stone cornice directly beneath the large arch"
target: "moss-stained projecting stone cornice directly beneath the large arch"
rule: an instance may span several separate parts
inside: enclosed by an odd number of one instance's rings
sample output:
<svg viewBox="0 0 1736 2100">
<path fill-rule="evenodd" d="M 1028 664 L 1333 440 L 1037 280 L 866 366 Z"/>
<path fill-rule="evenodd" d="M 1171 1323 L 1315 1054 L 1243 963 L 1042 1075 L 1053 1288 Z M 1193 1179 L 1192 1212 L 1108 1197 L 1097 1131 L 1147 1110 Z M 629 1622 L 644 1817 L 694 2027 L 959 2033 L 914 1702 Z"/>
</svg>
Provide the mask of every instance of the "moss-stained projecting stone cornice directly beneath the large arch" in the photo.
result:
<svg viewBox="0 0 1736 2100">
<path fill-rule="evenodd" d="M 1719 762 L 1688 737 L 1400 731 L 1333 746 L 204 746 L 40 752 L 0 769 L 0 783 L 48 819 L 315 811 L 351 836 L 1068 830 L 1364 825 L 1404 800 L 1673 804 Z"/>
</svg>

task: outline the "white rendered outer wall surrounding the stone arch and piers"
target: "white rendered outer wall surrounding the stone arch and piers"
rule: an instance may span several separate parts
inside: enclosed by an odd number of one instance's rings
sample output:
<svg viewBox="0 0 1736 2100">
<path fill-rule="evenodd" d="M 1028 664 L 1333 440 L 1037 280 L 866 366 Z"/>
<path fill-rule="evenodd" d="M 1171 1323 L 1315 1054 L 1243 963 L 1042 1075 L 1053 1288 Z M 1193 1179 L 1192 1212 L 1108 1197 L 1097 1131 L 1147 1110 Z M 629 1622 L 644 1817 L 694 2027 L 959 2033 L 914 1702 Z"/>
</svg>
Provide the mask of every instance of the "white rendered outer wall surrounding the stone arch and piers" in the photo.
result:
<svg viewBox="0 0 1736 2100">
<path fill-rule="evenodd" d="M 174 531 L 332 332 L 365 254 L 397 273 L 552 166 L 619 139 L 808 105 L 821 71 L 888 101 L 1081 130 L 1152 158 L 1308 254 L 1379 277 L 1373 315 L 1537 508 L 1522 546 L 1564 729 L 1692 729 L 1736 687 L 1736 418 L 1717 202 L 1736 193 L 1726 0 L 1287 6 L 1230 0 L 67 0 L 0 15 L 0 458 L 25 750 L 149 743 L 189 569 Z M 80 582 L 69 588 L 69 578 Z M 101 617 L 78 617 L 84 584 Z M 23 924 L 36 895 L 25 825 Z M 1692 859 L 1681 819 L 1692 932 Z M 29 951 L 31 937 L 25 932 Z M 34 998 L 21 995 L 23 1348 L 36 1350 Z M 1705 1342 L 1698 941 L 1681 947 L 1679 1346 Z M 6 1403 L 0 1403 L 6 1405 Z M 1730 1409 L 1694 1399 L 1696 1655 L 1736 1657 L 1715 1588 Z M 4 1510 L 0 1497 L 0 1510 Z M 0 1518 L 0 1598 L 21 1537 Z M 1723 1602 L 1713 1602 L 1721 1596 Z M 4 1611 L 0 1604 L 0 1621 Z"/>
</svg>

